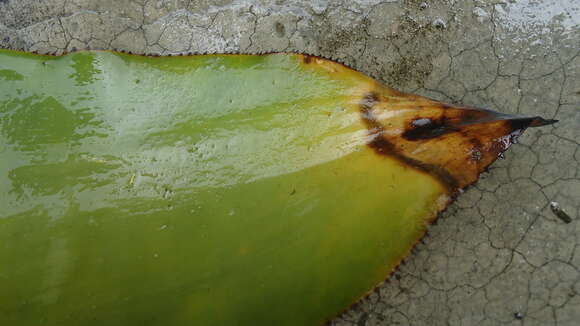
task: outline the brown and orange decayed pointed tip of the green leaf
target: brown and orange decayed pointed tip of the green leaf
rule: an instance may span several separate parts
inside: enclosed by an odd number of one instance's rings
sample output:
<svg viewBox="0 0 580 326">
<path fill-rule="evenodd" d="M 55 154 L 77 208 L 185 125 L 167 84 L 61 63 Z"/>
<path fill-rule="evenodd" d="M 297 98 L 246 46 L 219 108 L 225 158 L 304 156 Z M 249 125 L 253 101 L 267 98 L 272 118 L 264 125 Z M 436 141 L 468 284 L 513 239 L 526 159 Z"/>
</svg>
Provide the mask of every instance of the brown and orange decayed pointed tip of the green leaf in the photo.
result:
<svg viewBox="0 0 580 326">
<path fill-rule="evenodd" d="M 475 182 L 524 129 L 555 122 L 452 106 L 382 87 L 364 95 L 359 109 L 369 147 L 437 178 L 450 194 Z"/>
</svg>

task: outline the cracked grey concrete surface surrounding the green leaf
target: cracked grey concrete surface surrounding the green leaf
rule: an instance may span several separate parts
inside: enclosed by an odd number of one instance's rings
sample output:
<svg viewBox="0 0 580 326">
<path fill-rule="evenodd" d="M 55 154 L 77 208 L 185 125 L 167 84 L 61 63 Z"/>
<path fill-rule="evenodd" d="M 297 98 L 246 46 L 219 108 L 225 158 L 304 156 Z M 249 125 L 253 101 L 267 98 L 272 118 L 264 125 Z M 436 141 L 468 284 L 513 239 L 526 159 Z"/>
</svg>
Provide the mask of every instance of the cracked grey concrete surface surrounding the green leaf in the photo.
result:
<svg viewBox="0 0 580 326">
<path fill-rule="evenodd" d="M 332 324 L 580 324 L 578 0 L 0 0 L 0 46 L 305 51 L 400 90 L 559 119 L 529 130 Z"/>
</svg>

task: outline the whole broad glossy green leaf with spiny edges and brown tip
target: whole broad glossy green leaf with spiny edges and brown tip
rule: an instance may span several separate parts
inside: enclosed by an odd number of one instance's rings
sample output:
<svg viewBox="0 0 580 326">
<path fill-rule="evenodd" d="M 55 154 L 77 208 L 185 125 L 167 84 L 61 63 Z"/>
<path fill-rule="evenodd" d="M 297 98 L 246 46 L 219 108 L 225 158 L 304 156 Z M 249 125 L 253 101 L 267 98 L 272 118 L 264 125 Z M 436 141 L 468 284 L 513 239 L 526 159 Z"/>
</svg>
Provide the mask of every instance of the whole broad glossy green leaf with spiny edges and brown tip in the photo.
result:
<svg viewBox="0 0 580 326">
<path fill-rule="evenodd" d="M 6 325 L 321 324 L 553 122 L 301 54 L 0 51 L 2 76 Z"/>
</svg>

